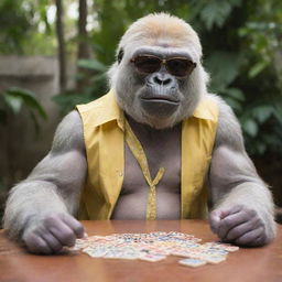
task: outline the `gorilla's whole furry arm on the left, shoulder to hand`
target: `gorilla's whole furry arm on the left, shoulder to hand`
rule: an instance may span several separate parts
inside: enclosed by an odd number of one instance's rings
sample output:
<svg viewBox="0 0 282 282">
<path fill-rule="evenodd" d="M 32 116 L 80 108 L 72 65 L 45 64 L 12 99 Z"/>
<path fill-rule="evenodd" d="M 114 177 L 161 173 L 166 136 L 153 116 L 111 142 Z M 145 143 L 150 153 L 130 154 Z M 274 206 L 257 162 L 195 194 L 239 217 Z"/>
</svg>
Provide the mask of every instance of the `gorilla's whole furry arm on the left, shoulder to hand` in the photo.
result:
<svg viewBox="0 0 282 282">
<path fill-rule="evenodd" d="M 51 151 L 26 180 L 14 186 L 4 212 L 4 228 L 32 252 L 52 253 L 84 235 L 69 214 L 78 207 L 87 163 L 79 113 L 59 123 Z"/>
</svg>

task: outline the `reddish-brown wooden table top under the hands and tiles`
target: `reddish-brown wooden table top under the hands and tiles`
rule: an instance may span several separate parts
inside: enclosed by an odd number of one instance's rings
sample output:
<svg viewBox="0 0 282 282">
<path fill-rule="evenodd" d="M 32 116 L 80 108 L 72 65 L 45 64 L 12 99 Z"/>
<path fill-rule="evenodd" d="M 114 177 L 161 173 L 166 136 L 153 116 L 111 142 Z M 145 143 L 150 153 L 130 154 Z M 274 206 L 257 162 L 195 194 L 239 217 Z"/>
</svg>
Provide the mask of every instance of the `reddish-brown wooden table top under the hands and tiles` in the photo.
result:
<svg viewBox="0 0 282 282">
<path fill-rule="evenodd" d="M 181 231 L 203 241 L 217 238 L 202 220 L 113 220 L 83 221 L 89 236 L 113 232 Z M 276 239 L 267 247 L 240 249 L 219 264 L 196 269 L 177 263 L 170 256 L 160 262 L 94 259 L 85 253 L 35 256 L 9 241 L 0 231 L 1 282 L 279 282 L 282 281 L 282 226 Z"/>
</svg>

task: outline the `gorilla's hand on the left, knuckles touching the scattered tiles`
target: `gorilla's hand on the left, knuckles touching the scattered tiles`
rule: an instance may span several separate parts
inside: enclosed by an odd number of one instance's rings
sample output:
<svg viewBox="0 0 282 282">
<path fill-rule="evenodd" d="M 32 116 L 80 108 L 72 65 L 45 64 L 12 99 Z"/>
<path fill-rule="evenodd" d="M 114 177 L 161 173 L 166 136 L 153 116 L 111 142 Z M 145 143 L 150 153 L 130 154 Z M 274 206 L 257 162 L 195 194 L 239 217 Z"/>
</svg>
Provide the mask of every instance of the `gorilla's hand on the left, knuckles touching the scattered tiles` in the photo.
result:
<svg viewBox="0 0 282 282">
<path fill-rule="evenodd" d="M 64 246 L 72 247 L 76 238 L 84 237 L 84 227 L 68 214 L 53 214 L 41 223 L 34 223 L 23 234 L 30 252 L 57 253 Z"/>
</svg>

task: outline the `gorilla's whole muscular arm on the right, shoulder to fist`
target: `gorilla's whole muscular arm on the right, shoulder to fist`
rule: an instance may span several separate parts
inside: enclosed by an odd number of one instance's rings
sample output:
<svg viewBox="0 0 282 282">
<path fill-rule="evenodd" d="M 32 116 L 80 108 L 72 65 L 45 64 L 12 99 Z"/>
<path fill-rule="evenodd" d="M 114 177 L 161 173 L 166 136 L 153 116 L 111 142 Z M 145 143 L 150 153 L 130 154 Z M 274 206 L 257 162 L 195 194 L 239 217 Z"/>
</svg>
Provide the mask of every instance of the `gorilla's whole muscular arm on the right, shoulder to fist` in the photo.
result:
<svg viewBox="0 0 282 282">
<path fill-rule="evenodd" d="M 231 109 L 221 100 L 218 104 L 208 178 L 214 204 L 210 226 L 224 241 L 262 246 L 275 235 L 272 196 L 245 151 L 240 126 Z"/>
</svg>

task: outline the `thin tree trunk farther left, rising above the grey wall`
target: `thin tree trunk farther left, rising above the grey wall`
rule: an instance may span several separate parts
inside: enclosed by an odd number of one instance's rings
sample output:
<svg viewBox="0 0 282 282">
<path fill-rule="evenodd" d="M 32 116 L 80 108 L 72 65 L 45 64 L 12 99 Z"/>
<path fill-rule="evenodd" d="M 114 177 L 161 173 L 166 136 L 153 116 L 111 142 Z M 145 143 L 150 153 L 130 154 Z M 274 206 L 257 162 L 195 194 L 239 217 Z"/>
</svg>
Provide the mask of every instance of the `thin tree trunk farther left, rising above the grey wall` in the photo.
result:
<svg viewBox="0 0 282 282">
<path fill-rule="evenodd" d="M 64 8 L 63 1 L 56 0 L 57 15 L 56 15 L 56 35 L 58 43 L 58 63 L 59 63 L 59 91 L 66 90 L 66 46 L 64 34 Z"/>
</svg>

